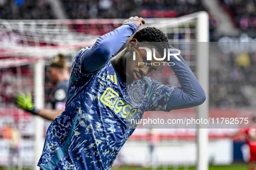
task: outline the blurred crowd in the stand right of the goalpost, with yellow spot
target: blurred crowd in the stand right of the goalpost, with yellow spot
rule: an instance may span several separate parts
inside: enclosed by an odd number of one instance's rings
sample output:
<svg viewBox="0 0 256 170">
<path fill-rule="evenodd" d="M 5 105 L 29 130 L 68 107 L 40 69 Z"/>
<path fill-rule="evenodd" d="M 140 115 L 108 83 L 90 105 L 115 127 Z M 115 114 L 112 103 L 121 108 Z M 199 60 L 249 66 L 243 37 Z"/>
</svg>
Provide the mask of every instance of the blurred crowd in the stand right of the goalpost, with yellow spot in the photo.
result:
<svg viewBox="0 0 256 170">
<path fill-rule="evenodd" d="M 220 69 L 210 70 L 211 107 L 256 107 L 256 55 L 220 55 Z"/>
</svg>

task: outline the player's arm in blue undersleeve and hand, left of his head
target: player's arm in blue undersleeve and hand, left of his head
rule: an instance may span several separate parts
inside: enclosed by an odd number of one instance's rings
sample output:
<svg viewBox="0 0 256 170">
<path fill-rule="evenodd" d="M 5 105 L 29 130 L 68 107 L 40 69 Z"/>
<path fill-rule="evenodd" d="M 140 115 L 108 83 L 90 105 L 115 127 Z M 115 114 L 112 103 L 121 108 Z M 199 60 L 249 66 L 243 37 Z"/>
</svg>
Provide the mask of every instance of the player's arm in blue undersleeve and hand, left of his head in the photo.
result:
<svg viewBox="0 0 256 170">
<path fill-rule="evenodd" d="M 141 23 L 145 24 L 143 18 L 130 17 L 119 28 L 98 38 L 96 43 L 84 52 L 81 71 L 91 73 L 103 68 L 123 46 L 127 38 L 136 32 Z"/>
</svg>

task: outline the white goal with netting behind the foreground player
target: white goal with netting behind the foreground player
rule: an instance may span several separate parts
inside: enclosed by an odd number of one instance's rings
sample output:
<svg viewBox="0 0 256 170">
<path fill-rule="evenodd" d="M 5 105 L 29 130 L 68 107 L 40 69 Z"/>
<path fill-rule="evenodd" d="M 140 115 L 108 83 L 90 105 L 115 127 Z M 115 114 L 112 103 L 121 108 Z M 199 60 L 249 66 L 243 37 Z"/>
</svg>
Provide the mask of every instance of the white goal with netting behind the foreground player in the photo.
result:
<svg viewBox="0 0 256 170">
<path fill-rule="evenodd" d="M 48 70 L 52 58 L 65 54 L 71 66 L 81 48 L 91 46 L 99 36 L 122 25 L 123 20 L 0 19 L 0 167 L 38 169 L 36 164 L 50 123 L 18 109 L 13 104 L 13 94 L 30 92 L 36 107 L 48 108 L 52 88 Z M 141 25 L 140 29 L 146 26 L 161 29 L 175 48 L 182 48 L 187 43 L 181 55 L 208 94 L 207 54 L 200 54 L 196 44 L 208 41 L 207 13 L 146 19 L 146 25 Z M 159 79 L 159 75 L 151 76 Z M 201 117 L 202 113 L 207 116 L 207 112 L 208 102 L 197 108 Z M 186 147 L 191 150 L 191 155 Z M 198 170 L 206 170 L 207 131 L 200 127 L 198 130 L 136 129 L 121 149 L 114 166 L 186 169 L 196 164 Z"/>
</svg>

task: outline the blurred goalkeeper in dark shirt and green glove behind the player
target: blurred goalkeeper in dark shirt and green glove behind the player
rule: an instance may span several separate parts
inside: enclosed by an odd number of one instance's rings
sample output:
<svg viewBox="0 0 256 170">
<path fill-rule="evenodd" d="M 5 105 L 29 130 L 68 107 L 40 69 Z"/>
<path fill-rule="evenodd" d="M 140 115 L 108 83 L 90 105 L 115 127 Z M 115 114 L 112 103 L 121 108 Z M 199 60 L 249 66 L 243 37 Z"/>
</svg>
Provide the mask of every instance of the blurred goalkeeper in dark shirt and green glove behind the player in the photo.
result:
<svg viewBox="0 0 256 170">
<path fill-rule="evenodd" d="M 54 120 L 60 113 L 65 110 L 65 103 L 67 101 L 68 91 L 68 64 L 63 54 L 59 54 L 58 57 L 50 65 L 50 79 L 55 85 L 51 92 L 52 109 L 37 109 L 29 93 L 16 94 L 15 104 L 34 115 L 41 116 L 47 120 Z"/>
</svg>

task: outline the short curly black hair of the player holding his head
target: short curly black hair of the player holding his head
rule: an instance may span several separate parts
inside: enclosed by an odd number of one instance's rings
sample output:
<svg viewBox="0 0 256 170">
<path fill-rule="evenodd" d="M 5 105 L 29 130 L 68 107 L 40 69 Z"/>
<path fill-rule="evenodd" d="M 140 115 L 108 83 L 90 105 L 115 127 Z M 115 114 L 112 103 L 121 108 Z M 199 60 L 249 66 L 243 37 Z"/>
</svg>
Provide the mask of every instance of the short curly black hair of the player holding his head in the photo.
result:
<svg viewBox="0 0 256 170">
<path fill-rule="evenodd" d="M 155 27 L 142 28 L 133 35 L 133 38 L 137 39 L 138 42 L 159 42 L 149 43 L 149 46 L 154 46 L 161 56 L 164 55 L 163 49 L 170 47 L 168 38 L 161 30 Z"/>
</svg>

